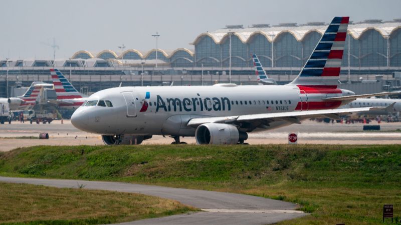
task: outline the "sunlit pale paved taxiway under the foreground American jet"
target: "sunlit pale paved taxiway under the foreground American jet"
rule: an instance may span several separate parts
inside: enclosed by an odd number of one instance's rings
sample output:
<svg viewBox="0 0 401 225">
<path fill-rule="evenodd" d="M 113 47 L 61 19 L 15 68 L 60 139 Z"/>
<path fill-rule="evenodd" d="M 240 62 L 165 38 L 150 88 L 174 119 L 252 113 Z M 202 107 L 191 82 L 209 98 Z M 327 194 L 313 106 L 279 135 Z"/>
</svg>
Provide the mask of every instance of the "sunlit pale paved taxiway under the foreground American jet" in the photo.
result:
<svg viewBox="0 0 401 225">
<path fill-rule="evenodd" d="M 370 124 L 377 124 L 372 122 Z M 363 123 L 341 124 L 323 123 L 305 120 L 302 124 L 292 124 L 286 127 L 250 133 L 247 140 L 250 144 L 281 144 L 288 143 L 289 132 L 298 133 L 298 143 L 309 144 L 401 144 L 401 122 L 382 122 L 380 131 L 362 131 Z M 18 136 L 39 136 L 47 132 L 50 139 L 13 139 Z M 2 138 L 7 137 L 7 138 Z M 77 138 L 76 138 L 77 137 Z M 11 138 L 11 139 L 9 139 Z M 181 138 L 181 141 L 195 143 L 193 137 Z M 12 124 L 0 124 L 0 151 L 8 151 L 17 147 L 33 145 L 102 145 L 98 134 L 86 133 L 76 129 L 69 120 L 55 120 L 51 124 L 30 124 L 13 121 Z M 143 144 L 168 144 L 170 137 L 154 135 Z"/>
</svg>

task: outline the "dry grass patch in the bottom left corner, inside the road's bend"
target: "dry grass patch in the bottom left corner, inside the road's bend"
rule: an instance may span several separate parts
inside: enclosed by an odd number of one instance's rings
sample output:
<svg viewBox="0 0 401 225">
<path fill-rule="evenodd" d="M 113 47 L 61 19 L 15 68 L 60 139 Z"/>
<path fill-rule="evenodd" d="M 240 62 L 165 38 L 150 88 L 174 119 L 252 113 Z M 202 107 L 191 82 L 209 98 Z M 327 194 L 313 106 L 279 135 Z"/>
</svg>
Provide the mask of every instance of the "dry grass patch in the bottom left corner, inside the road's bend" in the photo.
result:
<svg viewBox="0 0 401 225">
<path fill-rule="evenodd" d="M 182 213 L 177 201 L 134 193 L 0 182 L 0 223 L 99 224 Z"/>
</svg>

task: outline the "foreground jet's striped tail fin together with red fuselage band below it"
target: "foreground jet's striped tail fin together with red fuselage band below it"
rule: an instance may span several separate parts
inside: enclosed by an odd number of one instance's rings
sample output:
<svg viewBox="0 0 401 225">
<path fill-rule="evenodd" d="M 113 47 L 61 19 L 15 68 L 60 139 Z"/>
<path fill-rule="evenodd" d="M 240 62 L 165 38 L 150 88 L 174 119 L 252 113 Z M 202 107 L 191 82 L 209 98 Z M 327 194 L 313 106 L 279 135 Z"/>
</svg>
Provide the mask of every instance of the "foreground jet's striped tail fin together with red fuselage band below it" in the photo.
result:
<svg viewBox="0 0 401 225">
<path fill-rule="evenodd" d="M 296 85 L 303 99 L 295 110 L 329 109 L 341 101 L 324 101 L 322 95 L 340 95 L 337 88 L 347 36 L 349 17 L 334 17 L 320 38 L 299 75 L 289 84 Z"/>
</svg>

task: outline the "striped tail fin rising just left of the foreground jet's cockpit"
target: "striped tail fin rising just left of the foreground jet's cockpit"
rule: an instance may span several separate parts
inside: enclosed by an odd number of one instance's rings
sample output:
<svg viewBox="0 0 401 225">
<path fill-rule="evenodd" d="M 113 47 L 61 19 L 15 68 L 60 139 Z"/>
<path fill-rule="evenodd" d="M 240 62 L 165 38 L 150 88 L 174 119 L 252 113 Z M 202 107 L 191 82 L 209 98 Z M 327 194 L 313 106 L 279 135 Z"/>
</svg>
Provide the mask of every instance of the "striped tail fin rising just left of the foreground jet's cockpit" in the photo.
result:
<svg viewBox="0 0 401 225">
<path fill-rule="evenodd" d="M 50 69 L 54 89 L 56 90 L 57 99 L 82 98 L 83 94 L 78 92 L 71 82 L 58 69 Z"/>
</svg>

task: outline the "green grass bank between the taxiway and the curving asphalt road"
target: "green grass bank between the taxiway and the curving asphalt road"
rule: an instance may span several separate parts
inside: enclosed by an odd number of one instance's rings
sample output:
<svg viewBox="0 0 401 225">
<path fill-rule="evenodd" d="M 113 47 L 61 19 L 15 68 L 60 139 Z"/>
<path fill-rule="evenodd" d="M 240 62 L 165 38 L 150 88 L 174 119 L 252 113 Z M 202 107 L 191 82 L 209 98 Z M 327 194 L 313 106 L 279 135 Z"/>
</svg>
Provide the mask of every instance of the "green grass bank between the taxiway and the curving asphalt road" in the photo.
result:
<svg viewBox="0 0 401 225">
<path fill-rule="evenodd" d="M 152 183 L 271 197 L 310 215 L 282 224 L 381 224 L 401 215 L 401 145 L 35 146 L 0 174 Z"/>
</svg>

